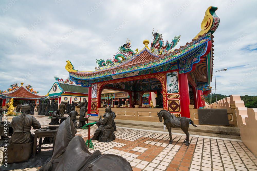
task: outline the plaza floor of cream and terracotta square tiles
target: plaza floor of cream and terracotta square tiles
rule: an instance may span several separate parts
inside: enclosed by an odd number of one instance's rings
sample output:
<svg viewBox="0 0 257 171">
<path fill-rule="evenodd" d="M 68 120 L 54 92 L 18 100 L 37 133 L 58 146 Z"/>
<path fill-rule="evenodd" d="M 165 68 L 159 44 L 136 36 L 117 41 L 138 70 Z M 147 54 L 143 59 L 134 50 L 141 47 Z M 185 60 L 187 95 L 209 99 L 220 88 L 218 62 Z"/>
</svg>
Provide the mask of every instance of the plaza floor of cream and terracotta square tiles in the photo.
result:
<svg viewBox="0 0 257 171">
<path fill-rule="evenodd" d="M 49 126 L 51 121 L 47 116 L 34 116 L 42 127 Z M 9 116 L 8 121 L 11 119 L 12 116 Z M 96 128 L 96 125 L 91 127 L 90 136 L 93 136 Z M 34 129 L 31 132 L 33 133 Z M 88 130 L 77 129 L 76 135 L 87 140 Z M 89 151 L 93 153 L 100 150 L 102 154 L 120 155 L 130 162 L 134 171 L 257 170 L 257 158 L 238 141 L 190 136 L 191 143 L 186 146 L 183 144 L 186 135 L 173 134 L 173 143 L 168 144 L 169 134 L 166 132 L 120 127 L 117 127 L 115 137 L 116 139 L 110 143 L 93 141 L 94 149 L 89 148 Z M 0 148 L 1 165 L 2 159 L 3 147 Z"/>
</svg>

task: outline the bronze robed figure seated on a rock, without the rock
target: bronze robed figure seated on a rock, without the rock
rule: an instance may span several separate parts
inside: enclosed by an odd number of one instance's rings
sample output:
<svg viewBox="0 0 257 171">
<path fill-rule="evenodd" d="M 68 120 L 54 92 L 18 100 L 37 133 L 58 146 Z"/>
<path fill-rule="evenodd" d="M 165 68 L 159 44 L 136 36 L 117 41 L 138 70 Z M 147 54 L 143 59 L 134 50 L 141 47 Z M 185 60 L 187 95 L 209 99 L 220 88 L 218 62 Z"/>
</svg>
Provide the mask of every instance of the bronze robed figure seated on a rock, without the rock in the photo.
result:
<svg viewBox="0 0 257 171">
<path fill-rule="evenodd" d="M 109 107 L 105 108 L 105 117 L 104 117 L 103 120 L 102 120 L 102 116 L 100 115 L 99 122 L 102 125 L 100 125 L 96 129 L 96 131 L 94 133 L 94 136 L 91 138 L 91 140 L 98 140 L 103 129 L 110 129 L 110 128 L 112 128 L 112 118 L 113 118 L 113 116 L 112 116 L 112 114 L 110 112 L 111 111 L 110 109 L 111 108 L 109 108 Z"/>
</svg>

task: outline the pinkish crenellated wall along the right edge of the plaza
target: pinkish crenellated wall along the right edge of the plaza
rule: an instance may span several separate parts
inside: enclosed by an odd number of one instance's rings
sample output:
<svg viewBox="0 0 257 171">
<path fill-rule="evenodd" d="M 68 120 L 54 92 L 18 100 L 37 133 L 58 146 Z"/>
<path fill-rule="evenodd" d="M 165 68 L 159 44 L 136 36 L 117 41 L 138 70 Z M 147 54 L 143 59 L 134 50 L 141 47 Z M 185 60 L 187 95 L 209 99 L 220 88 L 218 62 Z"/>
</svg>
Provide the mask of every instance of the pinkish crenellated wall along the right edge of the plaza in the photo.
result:
<svg viewBox="0 0 257 171">
<path fill-rule="evenodd" d="M 215 103 L 213 105 L 216 105 Z M 257 156 L 257 109 L 246 108 L 240 95 L 231 95 L 218 101 L 218 108 L 235 106 L 237 125 L 240 129 L 241 140 L 252 153 Z"/>
</svg>

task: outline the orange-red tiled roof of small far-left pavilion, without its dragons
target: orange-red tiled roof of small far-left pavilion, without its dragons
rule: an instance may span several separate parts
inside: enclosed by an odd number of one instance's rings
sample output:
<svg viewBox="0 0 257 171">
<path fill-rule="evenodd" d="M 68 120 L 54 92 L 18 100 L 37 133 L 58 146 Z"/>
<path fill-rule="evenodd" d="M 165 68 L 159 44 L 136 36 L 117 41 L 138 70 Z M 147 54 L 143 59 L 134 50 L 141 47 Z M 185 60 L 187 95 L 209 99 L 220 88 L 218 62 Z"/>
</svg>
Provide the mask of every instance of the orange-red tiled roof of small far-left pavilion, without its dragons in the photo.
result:
<svg viewBox="0 0 257 171">
<path fill-rule="evenodd" d="M 34 93 L 31 93 L 27 90 L 23 85 L 21 85 L 16 90 L 11 93 L 1 93 L 0 96 L 2 98 L 17 98 L 17 99 L 45 99 L 47 96 L 40 96 Z"/>
</svg>

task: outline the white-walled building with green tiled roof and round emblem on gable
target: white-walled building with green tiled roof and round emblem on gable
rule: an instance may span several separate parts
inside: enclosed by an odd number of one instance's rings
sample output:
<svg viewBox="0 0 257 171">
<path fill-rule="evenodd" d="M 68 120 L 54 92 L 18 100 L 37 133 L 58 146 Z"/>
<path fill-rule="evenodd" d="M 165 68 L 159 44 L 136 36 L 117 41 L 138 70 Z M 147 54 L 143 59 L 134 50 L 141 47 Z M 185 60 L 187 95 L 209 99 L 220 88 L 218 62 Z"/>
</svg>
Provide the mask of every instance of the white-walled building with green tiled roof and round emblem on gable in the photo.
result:
<svg viewBox="0 0 257 171">
<path fill-rule="evenodd" d="M 62 80 L 62 79 L 61 79 Z M 60 104 L 62 101 L 66 104 L 68 101 L 74 101 L 77 104 L 79 101 L 88 100 L 88 87 L 73 84 L 72 82 L 57 81 L 53 83 L 49 90 L 49 99 L 57 101 Z"/>
</svg>

